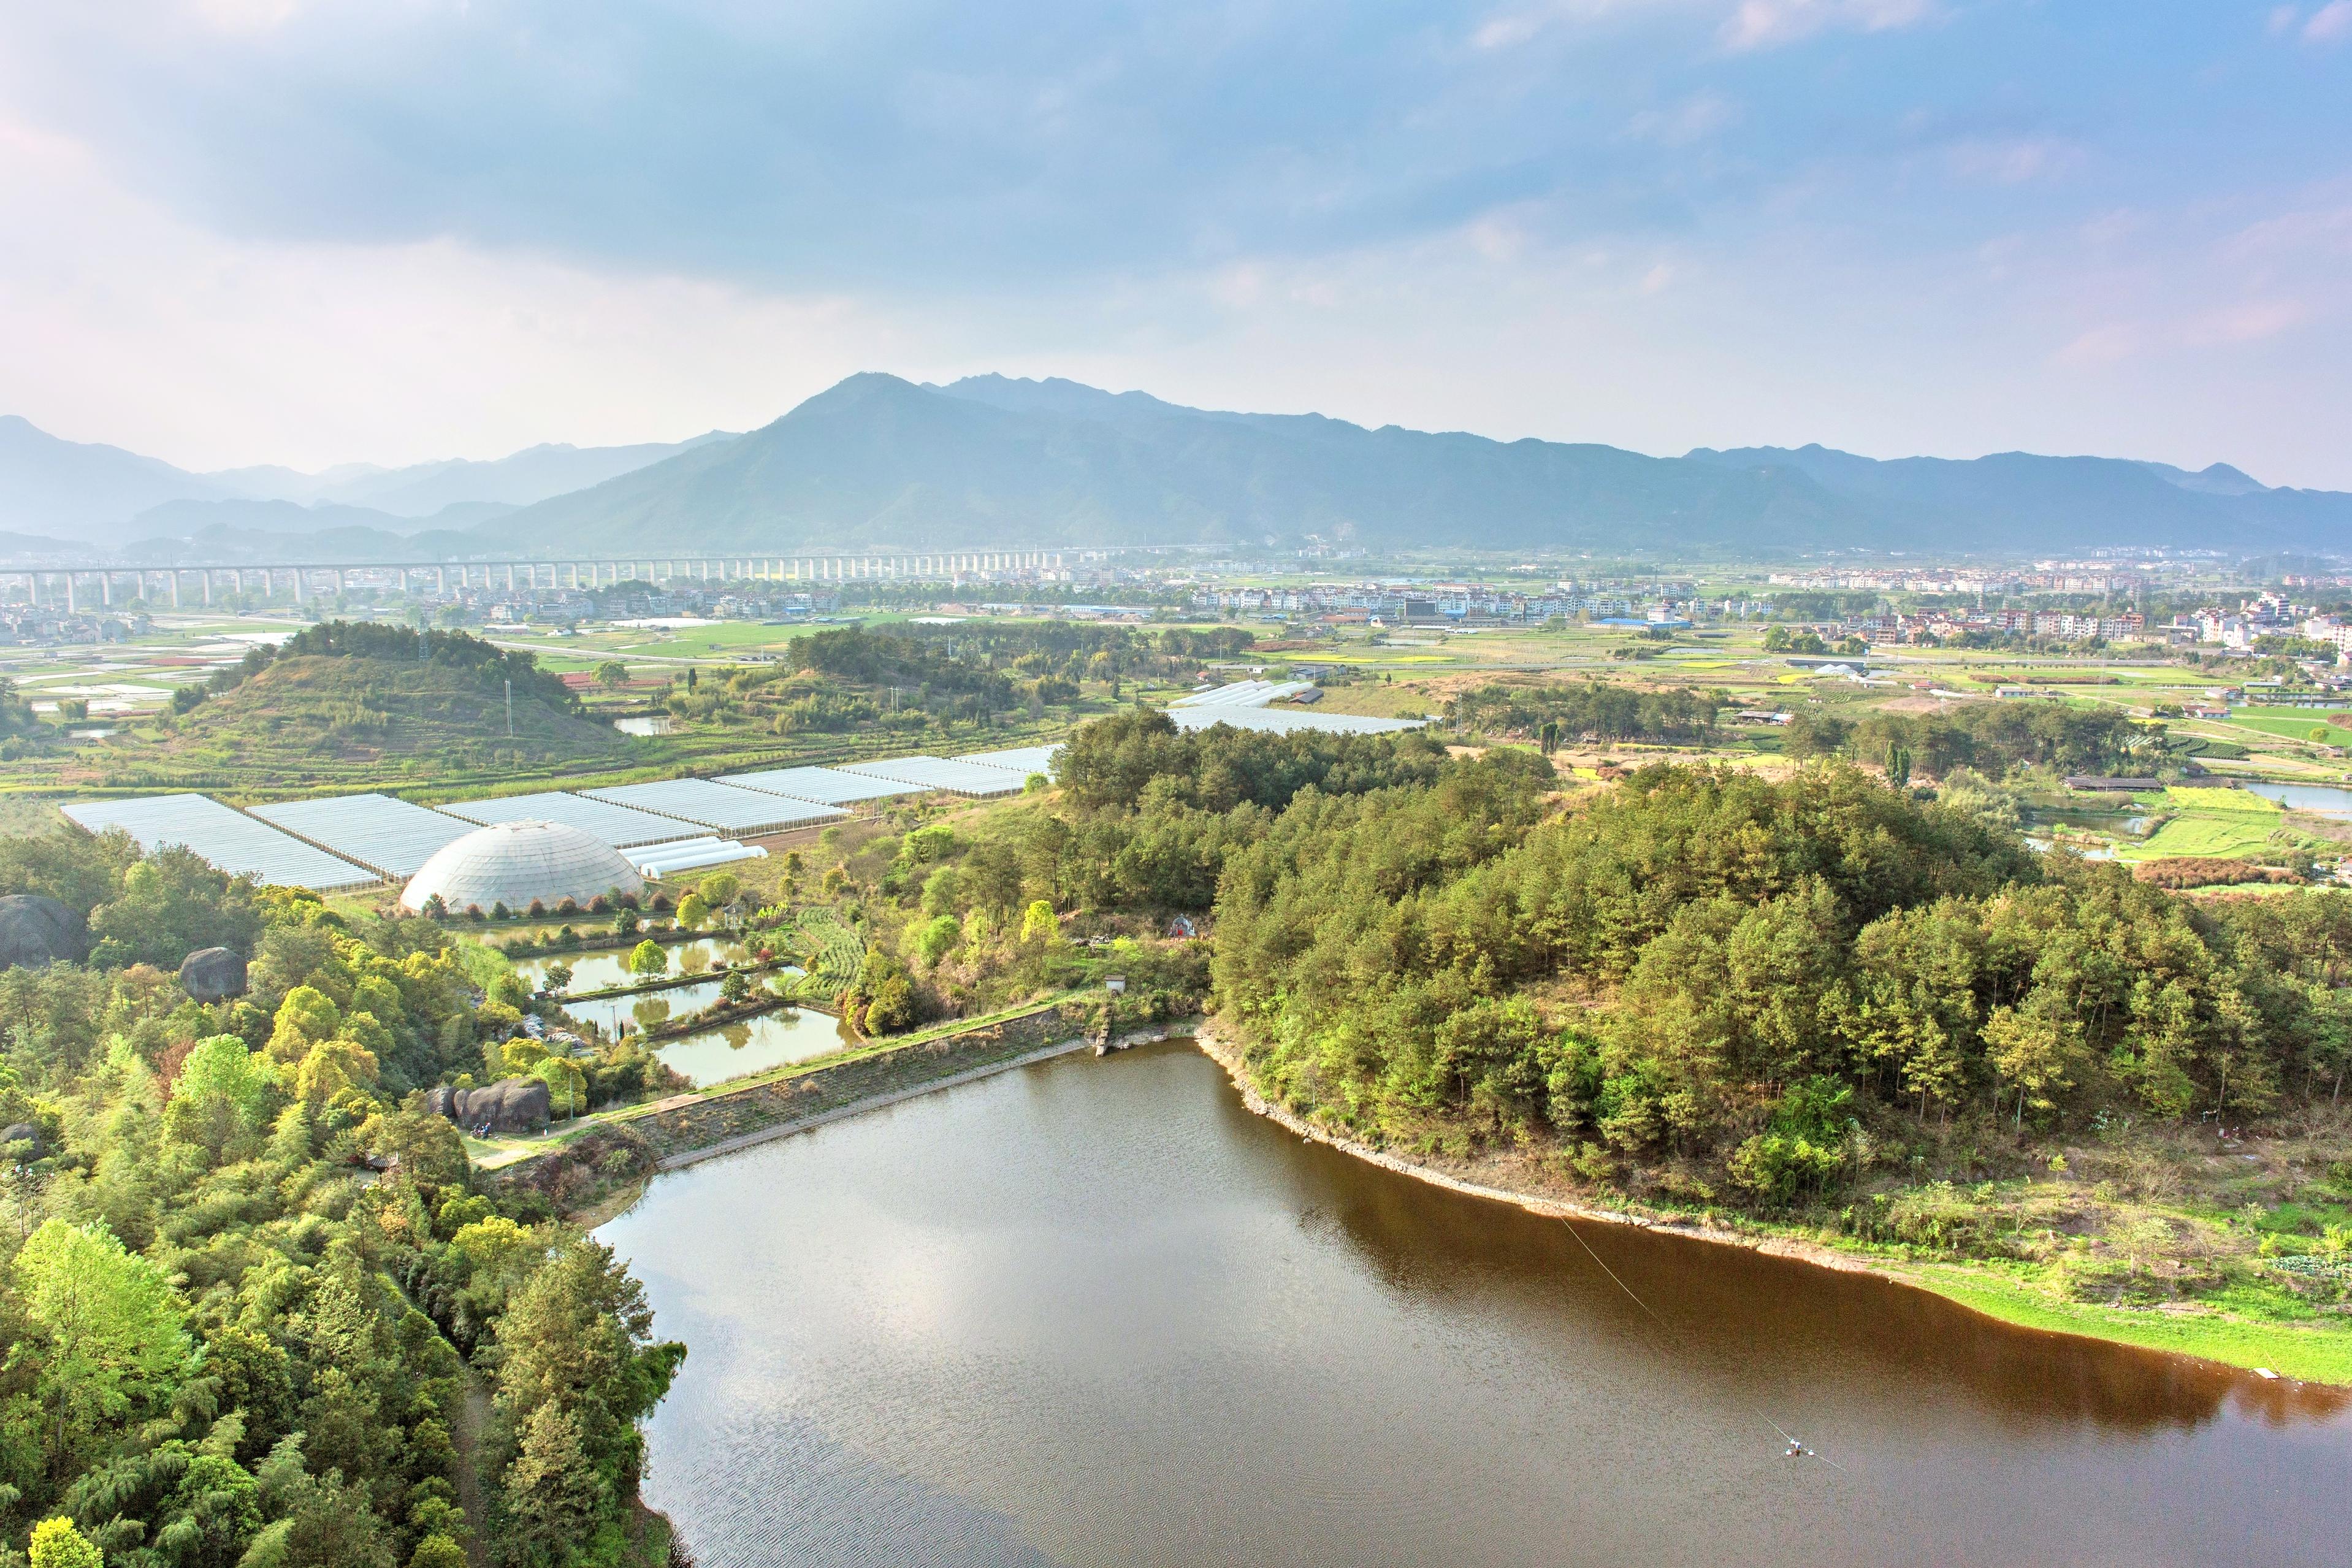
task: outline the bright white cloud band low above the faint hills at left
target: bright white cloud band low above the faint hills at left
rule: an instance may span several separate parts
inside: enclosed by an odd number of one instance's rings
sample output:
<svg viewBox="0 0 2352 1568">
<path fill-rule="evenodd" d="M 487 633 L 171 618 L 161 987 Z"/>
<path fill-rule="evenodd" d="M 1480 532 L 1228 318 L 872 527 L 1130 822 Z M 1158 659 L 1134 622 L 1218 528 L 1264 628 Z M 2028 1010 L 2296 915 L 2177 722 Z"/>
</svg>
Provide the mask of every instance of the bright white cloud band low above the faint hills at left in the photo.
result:
<svg viewBox="0 0 2352 1568">
<path fill-rule="evenodd" d="M 764 423 L 849 371 L 927 369 L 953 324 L 452 240 L 226 240 L 0 122 L 0 411 L 56 435 L 308 468 Z"/>
</svg>

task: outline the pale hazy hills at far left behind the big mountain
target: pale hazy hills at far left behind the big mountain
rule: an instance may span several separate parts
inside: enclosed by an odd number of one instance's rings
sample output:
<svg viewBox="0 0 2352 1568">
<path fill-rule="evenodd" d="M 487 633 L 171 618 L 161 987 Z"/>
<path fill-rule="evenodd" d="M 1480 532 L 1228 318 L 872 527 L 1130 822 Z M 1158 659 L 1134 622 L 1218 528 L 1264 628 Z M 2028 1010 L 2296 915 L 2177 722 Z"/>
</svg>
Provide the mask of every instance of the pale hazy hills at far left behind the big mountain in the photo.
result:
<svg viewBox="0 0 2352 1568">
<path fill-rule="evenodd" d="M 724 440 L 731 437 L 713 430 L 687 442 L 546 444 L 482 463 L 343 463 L 315 475 L 292 468 L 200 475 L 120 447 L 59 440 L 9 414 L 0 416 L 0 531 L 71 538 L 87 552 L 143 548 L 207 529 L 308 538 L 343 529 L 393 536 L 416 534 L 419 527 L 466 529 L 508 508 Z M 322 545 L 289 545 L 289 552 L 315 548 Z M 414 552 L 414 545 L 400 552 Z"/>
</svg>

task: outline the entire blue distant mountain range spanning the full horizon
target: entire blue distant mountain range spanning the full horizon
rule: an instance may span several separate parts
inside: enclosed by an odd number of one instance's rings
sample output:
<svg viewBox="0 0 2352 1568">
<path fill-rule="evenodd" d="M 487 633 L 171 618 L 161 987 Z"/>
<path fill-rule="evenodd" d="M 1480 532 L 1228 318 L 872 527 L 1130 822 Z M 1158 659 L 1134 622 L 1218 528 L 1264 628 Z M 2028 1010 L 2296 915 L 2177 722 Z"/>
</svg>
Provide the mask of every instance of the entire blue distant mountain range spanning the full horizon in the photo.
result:
<svg viewBox="0 0 2352 1568">
<path fill-rule="evenodd" d="M 428 522 L 430 531 L 416 534 Z M 1319 414 L 1221 414 L 1075 381 L 861 374 L 748 435 L 534 447 L 496 463 L 188 475 L 0 418 L 0 529 L 343 559 L 557 550 L 1275 545 L 2039 555 L 2103 545 L 2352 552 L 2352 494 L 2216 463 L 2023 451 L 1494 442 Z M 176 541 L 176 543 L 174 543 Z M 226 559 L 226 555 L 223 555 Z"/>
</svg>

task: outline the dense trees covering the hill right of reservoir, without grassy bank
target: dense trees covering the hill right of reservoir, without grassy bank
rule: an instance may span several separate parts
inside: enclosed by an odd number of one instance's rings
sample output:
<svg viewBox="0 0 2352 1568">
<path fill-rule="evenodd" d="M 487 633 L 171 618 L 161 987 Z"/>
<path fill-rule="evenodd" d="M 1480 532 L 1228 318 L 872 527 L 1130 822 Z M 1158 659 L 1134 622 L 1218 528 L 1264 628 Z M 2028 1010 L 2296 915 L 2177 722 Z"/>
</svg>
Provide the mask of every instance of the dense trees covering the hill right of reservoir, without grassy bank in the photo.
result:
<svg viewBox="0 0 2352 1568">
<path fill-rule="evenodd" d="M 1522 748 L 1138 712 L 1056 773 L 997 839 L 898 846 L 913 980 L 976 907 L 1204 912 L 1265 1084 L 1381 1140 L 1778 1206 L 1900 1126 L 2239 1121 L 2352 1065 L 2352 898 L 2201 907 L 1846 762 L 1562 799 Z"/>
</svg>

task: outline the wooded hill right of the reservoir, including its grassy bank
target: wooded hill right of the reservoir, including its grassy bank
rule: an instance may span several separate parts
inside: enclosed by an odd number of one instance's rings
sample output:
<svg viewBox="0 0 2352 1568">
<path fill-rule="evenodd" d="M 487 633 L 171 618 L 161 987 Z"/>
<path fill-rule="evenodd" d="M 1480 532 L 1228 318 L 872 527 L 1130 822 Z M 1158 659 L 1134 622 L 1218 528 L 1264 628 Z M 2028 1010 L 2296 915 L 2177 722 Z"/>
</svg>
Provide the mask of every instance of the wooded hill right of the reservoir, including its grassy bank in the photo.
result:
<svg viewBox="0 0 2352 1568">
<path fill-rule="evenodd" d="M 906 875 L 917 990 L 974 903 L 1204 912 L 1244 1070 L 1352 1140 L 2192 1309 L 2147 1342 L 2352 1302 L 2347 893 L 2197 905 L 1844 762 L 1562 799 L 1529 750 L 1124 715 L 1056 773 Z M 2230 1354 L 2352 1378 L 2317 1342 Z"/>
</svg>

